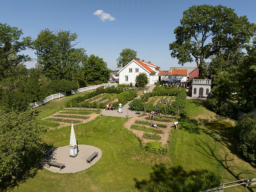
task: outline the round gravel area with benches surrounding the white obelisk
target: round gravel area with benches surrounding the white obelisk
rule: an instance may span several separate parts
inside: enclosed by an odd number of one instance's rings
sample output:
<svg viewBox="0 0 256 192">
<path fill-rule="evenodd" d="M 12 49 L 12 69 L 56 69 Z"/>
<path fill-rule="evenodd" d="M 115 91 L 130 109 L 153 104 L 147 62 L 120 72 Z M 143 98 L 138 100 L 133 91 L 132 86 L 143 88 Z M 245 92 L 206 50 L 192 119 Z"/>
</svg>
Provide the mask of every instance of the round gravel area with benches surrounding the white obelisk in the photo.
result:
<svg viewBox="0 0 256 192">
<path fill-rule="evenodd" d="M 91 156 L 95 151 L 98 153 L 98 158 L 95 157 L 92 160 L 92 164 L 89 164 L 86 162 L 86 159 Z M 54 154 L 52 154 L 50 157 L 44 157 L 44 159 L 41 161 L 41 164 L 43 167 L 51 172 L 56 173 L 75 173 L 80 172 L 85 169 L 88 169 L 97 161 L 100 160 L 100 157 L 102 155 L 102 151 L 94 146 L 91 145 L 78 145 L 78 154 L 76 157 L 69 157 L 69 147 L 59 147 L 54 149 Z M 50 161 L 55 161 L 64 165 L 64 169 L 61 169 L 59 167 L 51 166 L 48 167 L 48 163 Z"/>
</svg>

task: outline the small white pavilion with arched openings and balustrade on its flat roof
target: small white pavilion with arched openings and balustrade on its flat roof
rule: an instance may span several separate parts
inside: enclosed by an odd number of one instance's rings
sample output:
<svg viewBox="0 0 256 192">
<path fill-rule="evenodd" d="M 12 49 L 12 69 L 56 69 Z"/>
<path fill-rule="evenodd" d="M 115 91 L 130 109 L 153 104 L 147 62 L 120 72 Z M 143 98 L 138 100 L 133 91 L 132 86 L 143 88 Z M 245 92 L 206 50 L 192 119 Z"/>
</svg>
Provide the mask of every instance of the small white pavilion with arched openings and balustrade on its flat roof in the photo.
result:
<svg viewBox="0 0 256 192">
<path fill-rule="evenodd" d="M 193 79 L 192 97 L 208 97 L 211 85 L 212 79 Z"/>
</svg>

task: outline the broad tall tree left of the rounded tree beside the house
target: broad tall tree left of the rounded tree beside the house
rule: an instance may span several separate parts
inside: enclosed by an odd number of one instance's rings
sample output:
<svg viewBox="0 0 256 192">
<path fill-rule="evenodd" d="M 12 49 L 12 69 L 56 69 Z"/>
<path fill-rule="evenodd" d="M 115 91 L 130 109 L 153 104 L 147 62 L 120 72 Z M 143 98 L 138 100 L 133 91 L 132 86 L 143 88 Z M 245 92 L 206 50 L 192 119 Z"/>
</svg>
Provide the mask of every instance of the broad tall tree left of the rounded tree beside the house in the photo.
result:
<svg viewBox="0 0 256 192">
<path fill-rule="evenodd" d="M 43 68 L 45 76 L 52 80 L 72 80 L 88 56 L 83 48 L 75 48 L 76 33 L 60 29 L 41 30 L 31 48 L 36 50 L 37 63 Z M 28 41 L 32 41 L 31 38 Z"/>
</svg>

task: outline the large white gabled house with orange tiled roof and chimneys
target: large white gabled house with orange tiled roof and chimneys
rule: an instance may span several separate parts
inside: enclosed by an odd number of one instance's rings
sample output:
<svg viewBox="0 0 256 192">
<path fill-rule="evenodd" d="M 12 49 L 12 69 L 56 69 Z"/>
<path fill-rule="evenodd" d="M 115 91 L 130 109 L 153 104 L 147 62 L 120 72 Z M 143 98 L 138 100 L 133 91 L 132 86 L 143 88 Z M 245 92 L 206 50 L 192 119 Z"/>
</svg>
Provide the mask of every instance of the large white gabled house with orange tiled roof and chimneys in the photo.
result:
<svg viewBox="0 0 256 192">
<path fill-rule="evenodd" d="M 158 73 L 160 67 L 153 65 L 152 63 L 145 62 L 144 60 L 139 61 L 138 59 L 132 60 L 124 68 L 118 71 L 119 84 L 130 84 L 135 85 L 135 78 L 139 73 L 146 73 L 148 76 L 148 85 L 158 82 Z"/>
</svg>

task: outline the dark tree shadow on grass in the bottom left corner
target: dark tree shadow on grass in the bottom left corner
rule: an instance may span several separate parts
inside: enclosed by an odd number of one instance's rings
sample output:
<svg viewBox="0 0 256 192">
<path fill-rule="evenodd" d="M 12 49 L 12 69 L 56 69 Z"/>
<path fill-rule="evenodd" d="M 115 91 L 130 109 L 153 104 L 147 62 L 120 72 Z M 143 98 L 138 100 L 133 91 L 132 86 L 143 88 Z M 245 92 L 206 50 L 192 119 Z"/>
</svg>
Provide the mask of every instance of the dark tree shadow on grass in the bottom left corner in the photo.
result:
<svg viewBox="0 0 256 192">
<path fill-rule="evenodd" d="M 53 148 L 53 145 L 42 143 L 40 147 L 44 149 L 44 152 L 46 152 Z M 22 171 L 18 173 L 18 179 L 13 181 L 11 176 L 1 178 L 2 181 L 0 182 L 0 191 L 9 191 L 15 187 L 19 188 L 21 183 L 26 182 L 27 179 L 35 177 L 38 170 L 43 169 L 41 164 L 43 158 L 44 153 L 36 154 L 33 150 L 29 151 L 28 156 L 23 161 L 24 164 L 21 165 Z"/>
</svg>

